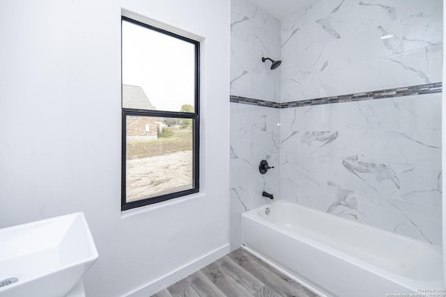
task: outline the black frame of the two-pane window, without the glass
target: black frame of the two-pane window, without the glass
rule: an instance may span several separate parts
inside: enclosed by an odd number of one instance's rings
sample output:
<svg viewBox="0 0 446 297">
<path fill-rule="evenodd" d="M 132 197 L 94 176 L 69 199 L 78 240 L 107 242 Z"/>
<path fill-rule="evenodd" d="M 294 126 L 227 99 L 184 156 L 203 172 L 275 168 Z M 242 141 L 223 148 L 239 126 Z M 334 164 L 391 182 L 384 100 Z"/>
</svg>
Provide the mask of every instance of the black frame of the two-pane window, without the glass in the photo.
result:
<svg viewBox="0 0 446 297">
<path fill-rule="evenodd" d="M 133 24 L 137 24 L 139 26 L 143 26 L 147 29 L 151 29 L 157 31 L 159 33 L 164 33 L 174 38 L 178 38 L 180 40 L 190 42 L 195 46 L 195 96 L 194 96 L 194 113 L 183 113 L 176 111 L 157 111 L 157 110 L 141 110 L 141 109 L 125 109 L 122 104 L 122 23 L 123 21 L 131 22 Z M 176 33 L 172 33 L 170 31 L 166 31 L 164 29 L 157 28 L 155 26 L 151 26 L 149 24 L 139 22 L 135 19 L 131 19 L 130 17 L 121 16 L 121 109 L 122 109 L 122 148 L 121 148 L 121 211 L 125 211 L 128 209 L 134 209 L 136 207 L 143 207 L 149 204 L 155 204 L 158 202 L 163 202 L 167 200 L 171 200 L 174 198 L 180 198 L 185 195 L 190 195 L 193 193 L 199 192 L 199 149 L 200 149 L 200 42 L 197 40 L 192 40 L 190 38 L 186 38 L 182 35 L 178 35 Z M 141 200 L 136 200 L 132 202 L 127 202 L 126 197 L 126 159 L 127 159 L 127 116 L 142 116 L 142 117 L 155 117 L 155 118 L 183 118 L 183 119 L 191 119 L 192 120 L 192 188 L 185 191 L 179 191 L 174 193 L 169 193 L 165 195 L 154 196 L 151 198 L 145 198 Z"/>
</svg>

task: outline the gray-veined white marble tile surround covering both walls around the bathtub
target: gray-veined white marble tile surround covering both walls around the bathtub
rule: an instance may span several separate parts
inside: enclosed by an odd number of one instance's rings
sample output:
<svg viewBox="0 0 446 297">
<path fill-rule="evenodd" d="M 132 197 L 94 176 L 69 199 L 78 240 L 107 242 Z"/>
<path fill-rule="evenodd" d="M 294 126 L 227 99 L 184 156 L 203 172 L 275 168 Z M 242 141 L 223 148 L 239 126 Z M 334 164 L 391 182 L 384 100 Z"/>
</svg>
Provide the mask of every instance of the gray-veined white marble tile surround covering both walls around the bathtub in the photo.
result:
<svg viewBox="0 0 446 297">
<path fill-rule="evenodd" d="M 269 70 L 261 61 L 256 67 L 236 61 L 270 54 L 277 27 L 256 34 L 248 23 L 267 14 L 249 1 L 232 1 L 231 248 L 240 245 L 240 214 L 268 202 L 263 190 L 441 245 L 442 93 L 328 100 L 442 81 L 441 11 L 439 0 L 315 1 L 282 20 L 283 63 Z M 380 40 L 387 33 L 394 38 Z M 240 36 L 258 38 L 259 47 Z M 252 83 L 258 71 L 279 77 L 279 88 L 270 83 L 259 96 Z M 270 103 L 239 104 L 236 97 Z M 305 103 L 323 97 L 323 104 Z M 261 159 L 275 166 L 266 175 L 257 169 Z"/>
</svg>

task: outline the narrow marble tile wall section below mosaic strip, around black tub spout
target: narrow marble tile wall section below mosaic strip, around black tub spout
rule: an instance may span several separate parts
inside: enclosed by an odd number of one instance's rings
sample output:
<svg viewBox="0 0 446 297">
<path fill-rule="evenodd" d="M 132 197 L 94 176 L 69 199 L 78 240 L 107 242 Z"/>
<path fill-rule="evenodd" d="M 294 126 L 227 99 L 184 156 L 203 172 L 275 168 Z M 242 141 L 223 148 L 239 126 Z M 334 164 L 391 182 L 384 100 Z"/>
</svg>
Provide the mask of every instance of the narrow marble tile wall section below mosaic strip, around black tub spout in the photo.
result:
<svg viewBox="0 0 446 297">
<path fill-rule="evenodd" d="M 241 244 L 240 215 L 270 201 L 262 197 L 263 191 L 281 197 L 279 117 L 279 109 L 231 103 L 231 250 Z M 263 159 L 275 166 L 265 175 L 259 172 Z"/>
</svg>

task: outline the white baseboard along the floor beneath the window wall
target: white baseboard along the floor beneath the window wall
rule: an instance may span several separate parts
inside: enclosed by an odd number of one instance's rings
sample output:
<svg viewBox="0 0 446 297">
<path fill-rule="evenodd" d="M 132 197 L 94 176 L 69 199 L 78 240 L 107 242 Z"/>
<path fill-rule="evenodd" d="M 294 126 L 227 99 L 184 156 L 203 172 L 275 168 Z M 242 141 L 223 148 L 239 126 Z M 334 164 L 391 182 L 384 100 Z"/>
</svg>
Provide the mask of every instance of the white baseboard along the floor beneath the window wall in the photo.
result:
<svg viewBox="0 0 446 297">
<path fill-rule="evenodd" d="M 169 287 L 171 284 L 178 282 L 178 280 L 183 280 L 183 278 L 191 275 L 192 273 L 199 271 L 201 268 L 208 266 L 210 263 L 215 262 L 215 260 L 220 259 L 224 255 L 229 253 L 229 244 L 226 244 L 212 252 L 209 252 L 198 259 L 177 268 L 171 273 L 158 278 L 152 282 L 148 282 L 144 286 L 141 286 L 130 293 L 124 295 L 125 297 L 147 297 L 161 291 L 164 288 Z"/>
</svg>

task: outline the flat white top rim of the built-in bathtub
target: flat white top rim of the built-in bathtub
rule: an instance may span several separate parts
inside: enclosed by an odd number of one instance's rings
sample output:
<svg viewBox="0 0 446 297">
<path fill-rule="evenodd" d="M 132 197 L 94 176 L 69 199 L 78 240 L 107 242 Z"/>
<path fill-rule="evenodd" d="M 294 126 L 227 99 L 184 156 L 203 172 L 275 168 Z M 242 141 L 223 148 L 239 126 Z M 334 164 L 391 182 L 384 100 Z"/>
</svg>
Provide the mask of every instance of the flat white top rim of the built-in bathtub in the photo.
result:
<svg viewBox="0 0 446 297">
<path fill-rule="evenodd" d="M 245 211 L 242 214 L 243 217 L 245 217 L 247 219 L 254 220 L 263 226 L 270 227 L 272 230 L 275 230 L 276 232 L 279 232 L 280 234 L 283 234 L 285 236 L 291 236 L 293 239 L 307 243 L 309 246 L 312 246 L 312 248 L 316 248 L 318 250 L 322 250 L 323 252 L 327 252 L 332 257 L 337 257 L 339 259 L 342 259 L 342 260 L 348 262 L 349 264 L 359 266 L 360 268 L 363 268 L 364 270 L 367 270 L 370 273 L 375 273 L 377 275 L 381 275 L 381 276 L 383 276 L 383 278 L 392 280 L 392 282 L 395 282 L 395 283 L 401 285 L 402 287 L 406 287 L 407 289 L 413 290 L 415 292 L 417 291 L 417 289 L 427 289 L 427 288 L 438 287 L 438 285 L 440 283 L 441 283 L 440 287 L 443 287 L 443 275 L 439 275 L 437 280 L 420 280 L 417 278 L 408 278 L 406 276 L 399 275 L 392 271 L 388 271 L 385 268 L 381 268 L 379 266 L 371 264 L 371 263 L 364 261 L 363 259 L 360 259 L 358 257 L 353 257 L 351 255 L 348 255 L 346 252 L 337 250 L 336 248 L 332 248 L 324 243 L 319 243 L 318 241 L 315 241 L 314 239 L 311 239 L 305 235 L 298 234 L 295 232 L 286 232 L 286 230 L 283 230 L 284 229 L 283 227 L 276 225 L 274 223 L 271 223 L 268 220 L 265 220 L 265 219 L 261 218 L 261 216 L 259 216 L 259 211 L 263 211 L 263 209 L 266 209 L 266 207 L 270 206 L 271 204 L 286 204 L 286 205 L 291 205 L 293 207 L 295 207 L 295 206 L 301 207 L 301 208 L 305 209 L 305 211 L 310 211 L 313 213 L 323 215 L 327 218 L 330 218 L 330 220 L 332 220 L 332 219 L 339 220 L 344 223 L 348 223 L 350 225 L 356 225 L 356 226 L 363 227 L 363 228 L 366 228 L 366 229 L 374 231 L 374 232 L 380 232 L 381 234 L 385 234 L 388 236 L 395 237 L 397 239 L 401 239 L 403 241 L 408 241 L 410 243 L 414 243 L 415 245 L 425 246 L 426 248 L 429 248 L 433 252 L 436 252 L 442 259 L 442 263 L 443 263 L 443 255 L 441 252 L 441 248 L 439 246 L 431 245 L 429 243 L 424 243 L 422 241 L 418 241 L 417 239 L 413 239 L 408 236 L 403 236 L 401 234 L 383 230 L 383 229 L 380 229 L 377 227 L 358 223 L 353 220 L 348 220 L 347 218 L 341 218 L 339 216 L 330 215 L 330 214 L 327 214 L 325 211 L 320 211 L 318 209 L 312 209 L 311 207 L 305 207 L 301 204 L 289 202 L 289 201 L 282 200 L 282 199 L 272 201 L 268 204 L 263 204 L 259 207 L 256 207 L 255 209 L 250 209 L 249 211 Z M 244 246 L 245 240 L 243 239 L 243 228 L 242 228 L 242 242 L 243 242 L 243 246 Z M 249 247 L 247 247 L 247 248 L 249 248 Z M 253 248 L 249 248 L 249 249 L 253 250 Z M 256 252 L 256 254 L 258 255 L 259 253 Z M 283 268 L 282 268 L 282 270 L 283 270 Z M 302 280 L 300 280 L 300 282 L 302 282 Z"/>
</svg>

